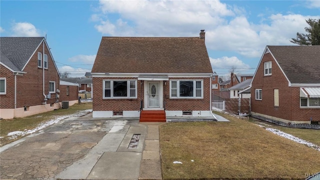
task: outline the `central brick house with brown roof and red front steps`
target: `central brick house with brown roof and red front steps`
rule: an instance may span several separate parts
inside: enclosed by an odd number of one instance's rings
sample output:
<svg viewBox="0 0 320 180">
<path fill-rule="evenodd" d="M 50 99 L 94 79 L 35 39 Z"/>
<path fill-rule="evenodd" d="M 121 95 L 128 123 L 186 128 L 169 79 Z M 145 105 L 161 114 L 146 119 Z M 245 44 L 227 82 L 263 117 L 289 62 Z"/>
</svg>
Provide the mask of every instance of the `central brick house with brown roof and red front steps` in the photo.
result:
<svg viewBox="0 0 320 180">
<path fill-rule="evenodd" d="M 93 117 L 212 117 L 212 68 L 199 37 L 102 37 L 92 67 Z M 161 117 L 161 118 L 160 118 Z"/>
</svg>

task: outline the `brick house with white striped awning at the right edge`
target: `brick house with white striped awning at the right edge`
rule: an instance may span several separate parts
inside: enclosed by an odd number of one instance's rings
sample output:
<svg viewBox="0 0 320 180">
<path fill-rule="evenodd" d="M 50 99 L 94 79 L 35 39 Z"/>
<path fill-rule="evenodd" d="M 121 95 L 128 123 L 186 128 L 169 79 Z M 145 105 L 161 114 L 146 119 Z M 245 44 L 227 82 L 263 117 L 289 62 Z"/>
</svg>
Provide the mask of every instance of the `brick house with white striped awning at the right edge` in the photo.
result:
<svg viewBox="0 0 320 180">
<path fill-rule="evenodd" d="M 320 46 L 267 45 L 251 82 L 251 113 L 285 123 L 320 122 Z"/>
</svg>

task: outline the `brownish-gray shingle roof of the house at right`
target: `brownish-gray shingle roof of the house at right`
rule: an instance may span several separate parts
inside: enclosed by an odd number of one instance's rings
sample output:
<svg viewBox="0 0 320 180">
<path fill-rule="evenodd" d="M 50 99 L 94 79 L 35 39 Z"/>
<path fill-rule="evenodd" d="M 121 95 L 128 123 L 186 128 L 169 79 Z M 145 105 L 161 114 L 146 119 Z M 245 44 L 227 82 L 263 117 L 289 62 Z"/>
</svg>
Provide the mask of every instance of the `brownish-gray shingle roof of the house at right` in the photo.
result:
<svg viewBox="0 0 320 180">
<path fill-rule="evenodd" d="M 291 83 L 320 83 L 320 45 L 267 47 Z"/>
</svg>

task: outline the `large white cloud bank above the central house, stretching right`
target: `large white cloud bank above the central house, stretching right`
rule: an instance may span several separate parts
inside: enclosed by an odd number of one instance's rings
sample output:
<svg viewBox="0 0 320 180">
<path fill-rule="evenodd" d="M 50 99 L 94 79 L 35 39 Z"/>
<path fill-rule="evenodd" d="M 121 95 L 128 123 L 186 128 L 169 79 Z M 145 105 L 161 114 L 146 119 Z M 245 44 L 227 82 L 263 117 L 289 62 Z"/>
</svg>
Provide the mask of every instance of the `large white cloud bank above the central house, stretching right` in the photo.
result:
<svg viewBox="0 0 320 180">
<path fill-rule="evenodd" d="M 316 1 L 316 0 L 314 0 Z M 314 2 L 316 5 L 318 2 Z M 226 1 L 228 2 L 228 1 Z M 231 4 L 231 3 L 230 3 Z M 248 21 L 243 7 L 219 0 L 100 0 L 100 12 L 92 14 L 94 27 L 111 36 L 197 36 L 205 29 L 210 50 L 234 51 L 259 58 L 265 45 L 294 45 L 289 40 L 305 32 L 305 19 L 320 16 L 259 14 L 259 22 Z M 117 19 L 109 18 L 117 13 Z M 264 13 L 264 12 L 261 12 Z"/>
</svg>

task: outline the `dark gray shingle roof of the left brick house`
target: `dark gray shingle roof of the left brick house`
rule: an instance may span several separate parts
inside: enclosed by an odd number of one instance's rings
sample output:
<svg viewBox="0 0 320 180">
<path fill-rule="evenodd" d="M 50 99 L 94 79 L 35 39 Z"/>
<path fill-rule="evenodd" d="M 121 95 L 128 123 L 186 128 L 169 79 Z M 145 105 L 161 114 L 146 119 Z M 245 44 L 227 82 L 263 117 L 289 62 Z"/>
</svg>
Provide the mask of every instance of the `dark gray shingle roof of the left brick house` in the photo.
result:
<svg viewBox="0 0 320 180">
<path fill-rule="evenodd" d="M 22 71 L 25 63 L 29 60 L 43 38 L 0 37 L 1 62 L 12 68 L 12 70 Z"/>
</svg>

